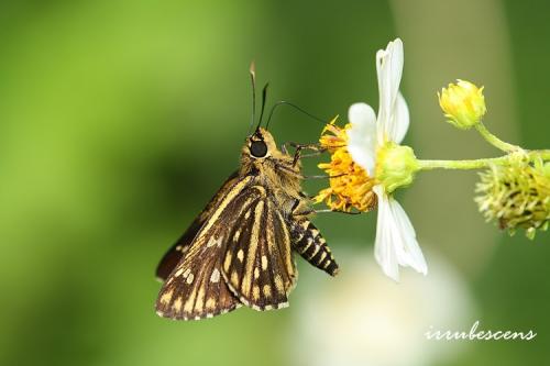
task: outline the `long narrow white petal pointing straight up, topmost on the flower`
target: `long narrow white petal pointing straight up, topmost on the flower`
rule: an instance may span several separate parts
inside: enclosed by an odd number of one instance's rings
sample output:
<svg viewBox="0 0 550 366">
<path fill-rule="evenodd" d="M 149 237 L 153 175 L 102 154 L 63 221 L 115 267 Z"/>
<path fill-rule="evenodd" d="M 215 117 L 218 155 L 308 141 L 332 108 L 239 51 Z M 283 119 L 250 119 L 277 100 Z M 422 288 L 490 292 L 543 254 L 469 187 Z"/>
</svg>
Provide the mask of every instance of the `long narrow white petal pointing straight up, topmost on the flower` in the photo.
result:
<svg viewBox="0 0 550 366">
<path fill-rule="evenodd" d="M 392 114 L 395 108 L 403 73 L 403 42 L 397 38 L 389 42 L 386 49 L 376 53 L 376 73 L 378 76 L 380 110 L 378 134 L 384 137 L 392 129 Z"/>
</svg>

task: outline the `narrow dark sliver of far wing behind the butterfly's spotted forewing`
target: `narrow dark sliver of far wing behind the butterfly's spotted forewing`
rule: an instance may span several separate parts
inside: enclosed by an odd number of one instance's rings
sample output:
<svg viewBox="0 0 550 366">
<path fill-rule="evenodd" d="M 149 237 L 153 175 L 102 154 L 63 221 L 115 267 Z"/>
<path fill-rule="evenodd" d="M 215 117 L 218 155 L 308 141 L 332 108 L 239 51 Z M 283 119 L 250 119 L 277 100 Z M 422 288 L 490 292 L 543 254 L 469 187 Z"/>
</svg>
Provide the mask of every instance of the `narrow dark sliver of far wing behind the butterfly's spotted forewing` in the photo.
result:
<svg viewBox="0 0 550 366">
<path fill-rule="evenodd" d="M 221 188 L 216 192 L 212 199 L 208 202 L 207 207 L 200 212 L 200 214 L 193 221 L 190 226 L 185 231 L 182 237 L 178 239 L 176 244 L 174 244 L 168 252 L 163 256 L 161 263 L 156 267 L 156 278 L 160 281 L 165 281 L 168 278 L 168 275 L 174 270 L 176 265 L 182 260 L 184 254 L 189 249 L 189 246 L 193 243 L 193 240 L 197 235 L 198 231 L 208 218 L 212 214 L 215 208 L 217 208 L 223 198 L 223 196 L 228 192 L 230 187 L 232 187 L 238 180 L 238 173 L 233 173 L 229 178 L 223 182 Z"/>
</svg>

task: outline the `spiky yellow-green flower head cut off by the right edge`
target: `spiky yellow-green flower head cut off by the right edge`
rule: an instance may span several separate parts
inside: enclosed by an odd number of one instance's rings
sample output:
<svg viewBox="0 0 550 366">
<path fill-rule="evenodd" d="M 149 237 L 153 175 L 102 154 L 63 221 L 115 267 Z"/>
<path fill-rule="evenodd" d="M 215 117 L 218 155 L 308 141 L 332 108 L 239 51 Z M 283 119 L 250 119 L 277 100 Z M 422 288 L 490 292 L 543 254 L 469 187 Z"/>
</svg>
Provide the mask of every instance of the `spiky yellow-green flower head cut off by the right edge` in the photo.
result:
<svg viewBox="0 0 550 366">
<path fill-rule="evenodd" d="M 514 234 L 525 229 L 529 239 L 537 230 L 547 230 L 550 221 L 550 163 L 517 160 L 493 166 L 481 174 L 475 198 L 487 221 Z"/>
</svg>

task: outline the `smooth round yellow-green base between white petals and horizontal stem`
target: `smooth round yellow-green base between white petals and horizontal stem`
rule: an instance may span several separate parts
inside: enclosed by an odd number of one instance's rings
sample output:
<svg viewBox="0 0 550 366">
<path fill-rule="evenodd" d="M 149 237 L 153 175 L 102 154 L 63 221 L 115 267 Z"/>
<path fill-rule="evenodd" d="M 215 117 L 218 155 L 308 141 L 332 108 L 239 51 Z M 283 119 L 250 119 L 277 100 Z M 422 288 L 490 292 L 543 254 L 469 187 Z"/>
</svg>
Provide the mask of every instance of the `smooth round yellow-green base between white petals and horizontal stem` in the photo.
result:
<svg viewBox="0 0 550 366">
<path fill-rule="evenodd" d="M 376 153 L 376 180 L 387 193 L 410 185 L 419 169 L 415 152 L 409 146 L 387 142 Z"/>
</svg>

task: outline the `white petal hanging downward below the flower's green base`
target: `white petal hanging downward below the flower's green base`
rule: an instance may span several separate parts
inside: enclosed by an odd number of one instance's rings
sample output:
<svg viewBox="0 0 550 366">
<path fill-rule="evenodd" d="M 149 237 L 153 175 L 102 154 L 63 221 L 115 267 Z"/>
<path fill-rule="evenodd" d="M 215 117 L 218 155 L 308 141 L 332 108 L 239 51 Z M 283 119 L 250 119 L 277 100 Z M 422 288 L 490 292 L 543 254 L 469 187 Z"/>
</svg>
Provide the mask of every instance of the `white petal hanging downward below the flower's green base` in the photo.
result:
<svg viewBox="0 0 550 366">
<path fill-rule="evenodd" d="M 416 240 L 415 229 L 402 206 L 384 192 L 382 186 L 374 187 L 378 197 L 378 222 L 374 256 L 384 273 L 398 280 L 398 265 L 413 267 L 427 275 L 428 266 Z"/>
</svg>

